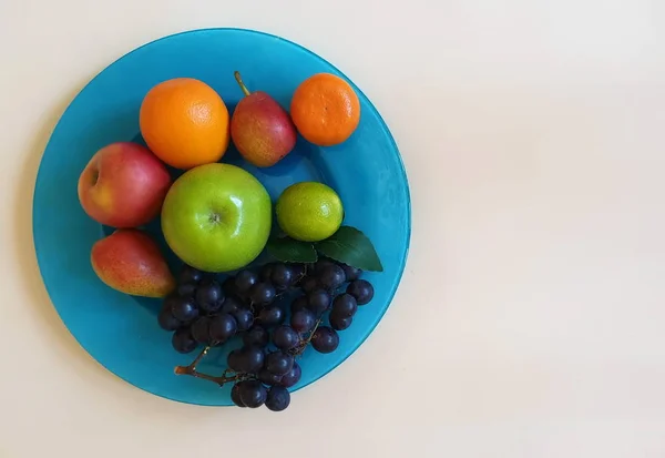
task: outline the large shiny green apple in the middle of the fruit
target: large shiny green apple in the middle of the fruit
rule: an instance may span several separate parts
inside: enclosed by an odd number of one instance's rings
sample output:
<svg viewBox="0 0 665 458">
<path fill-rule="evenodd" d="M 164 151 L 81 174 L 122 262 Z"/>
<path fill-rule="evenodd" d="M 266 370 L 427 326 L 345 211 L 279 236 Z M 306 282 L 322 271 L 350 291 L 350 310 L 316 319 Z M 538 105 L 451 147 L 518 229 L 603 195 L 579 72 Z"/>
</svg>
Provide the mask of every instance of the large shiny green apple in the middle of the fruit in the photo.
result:
<svg viewBox="0 0 665 458">
<path fill-rule="evenodd" d="M 162 232 L 171 250 L 205 272 L 249 264 L 266 246 L 270 224 L 266 189 L 231 164 L 205 164 L 185 172 L 162 207 Z"/>
</svg>

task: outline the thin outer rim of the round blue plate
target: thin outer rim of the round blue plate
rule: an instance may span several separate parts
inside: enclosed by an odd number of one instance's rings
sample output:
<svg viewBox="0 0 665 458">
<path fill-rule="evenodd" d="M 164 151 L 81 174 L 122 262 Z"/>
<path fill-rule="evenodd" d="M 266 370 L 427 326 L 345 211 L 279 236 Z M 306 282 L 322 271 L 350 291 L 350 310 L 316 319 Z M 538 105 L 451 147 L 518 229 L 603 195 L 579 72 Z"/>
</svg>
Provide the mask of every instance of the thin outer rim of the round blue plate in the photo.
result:
<svg viewBox="0 0 665 458">
<path fill-rule="evenodd" d="M 213 27 L 213 28 L 190 29 L 190 30 L 183 30 L 183 31 L 180 31 L 180 32 L 175 32 L 175 33 L 162 35 L 162 37 L 160 37 L 157 39 L 147 41 L 147 42 L 145 42 L 145 43 L 143 43 L 143 44 L 136 47 L 136 48 L 133 48 L 132 50 L 125 52 L 124 54 L 122 54 L 117 59 L 113 60 L 108 65 L 104 65 L 102 68 L 102 70 L 100 70 L 99 72 L 96 72 L 94 74 L 94 77 L 92 77 L 90 79 L 90 81 L 88 81 L 88 83 L 85 83 L 76 92 L 76 94 L 69 101 L 65 110 L 62 112 L 62 114 L 58 119 L 58 122 L 53 126 L 53 130 L 51 131 L 51 133 L 49 135 L 49 140 L 47 141 L 47 144 L 45 144 L 45 146 L 43 149 L 42 156 L 40 157 L 40 161 L 39 161 L 38 173 L 37 173 L 37 176 L 34 179 L 34 186 L 33 186 L 33 194 L 32 194 L 32 212 L 31 212 L 31 216 L 32 216 L 32 242 L 33 242 L 33 246 L 34 246 L 34 256 L 35 256 L 35 261 L 37 261 L 37 264 L 38 264 L 38 267 L 39 267 L 39 272 L 40 272 L 40 276 L 41 276 L 42 283 L 43 283 L 44 288 L 47 291 L 47 294 L 49 296 L 49 301 L 51 302 L 51 306 L 55 309 L 55 313 L 58 314 L 58 317 L 60 318 L 60 320 L 64 325 L 64 328 L 76 340 L 76 344 L 79 344 L 79 346 L 90 357 L 92 357 L 92 359 L 96 364 L 99 364 L 100 366 L 102 366 L 106 372 L 109 372 L 113 376 L 122 379 L 123 381 L 127 383 L 129 385 L 131 385 L 131 386 L 140 389 L 141 391 L 147 393 L 149 395 L 157 396 L 157 397 L 161 397 L 161 398 L 164 398 L 164 399 L 167 399 L 167 400 L 171 400 L 171 401 L 175 401 L 175 403 L 188 404 L 188 405 L 195 405 L 195 406 L 202 406 L 202 407 L 211 407 L 211 408 L 233 407 L 233 406 L 228 406 L 228 405 L 227 406 L 211 405 L 211 404 L 202 404 L 202 403 L 188 401 L 188 400 L 183 400 L 183 399 L 175 399 L 175 398 L 168 397 L 166 395 L 161 395 L 161 394 L 147 390 L 147 389 L 141 387 L 141 386 L 135 385 L 134 383 L 132 383 L 131 380 L 129 380 L 125 377 L 121 376 L 120 374 L 115 373 L 114 370 L 111 370 L 109 367 L 106 367 L 106 365 L 104 363 L 102 363 L 94 355 L 92 355 L 83 344 L 81 344 L 81 342 L 79 340 L 79 338 L 76 337 L 76 335 L 70 330 L 69 326 L 66 325 L 66 323 L 62 318 L 62 316 L 61 316 L 58 307 L 53 303 L 49 284 L 47 283 L 47 279 L 44 277 L 44 272 L 42 269 L 42 263 L 41 263 L 41 256 L 40 256 L 39 250 L 38 250 L 38 237 L 37 237 L 37 230 L 35 230 L 35 200 L 37 200 L 37 196 L 38 196 L 38 193 L 37 193 L 38 183 L 40 181 L 41 174 L 44 173 L 43 167 L 42 167 L 44 155 L 45 155 L 47 150 L 49 149 L 49 145 L 51 144 L 52 136 L 58 131 L 58 128 L 60 126 L 60 124 L 62 122 L 62 119 L 70 111 L 73 102 L 81 95 L 82 92 L 84 92 L 91 84 L 93 84 L 94 81 L 101 74 L 103 74 L 108 69 L 110 69 L 111 67 L 115 65 L 120 61 L 130 58 L 132 54 L 134 54 L 135 52 L 142 50 L 143 48 L 156 44 L 156 43 L 158 43 L 161 41 L 173 39 L 173 38 L 176 38 L 178 35 L 201 33 L 201 32 L 219 32 L 219 31 L 222 31 L 222 32 L 225 32 L 225 31 L 233 32 L 233 31 L 235 31 L 235 32 L 242 32 L 242 33 L 258 34 L 258 35 L 263 35 L 263 37 L 267 37 L 267 38 L 277 40 L 277 41 L 285 42 L 286 44 L 294 45 L 297 49 L 299 49 L 299 50 L 301 50 L 301 51 L 310 54 L 315 59 L 318 59 L 318 60 L 325 62 L 327 65 L 329 65 L 336 72 L 338 72 L 354 88 L 354 90 L 357 91 L 367 101 L 367 103 L 371 106 L 371 109 L 374 110 L 374 112 L 378 116 L 380 123 L 385 126 L 385 131 L 388 134 L 387 136 L 388 136 L 388 139 L 390 141 L 390 144 L 392 145 L 393 150 L 397 152 L 397 160 L 398 160 L 398 164 L 399 164 L 399 171 L 401 172 L 401 175 L 402 175 L 402 179 L 403 179 L 403 182 L 405 182 L 405 197 L 406 197 L 406 243 L 405 243 L 405 247 L 403 247 L 403 255 L 401 257 L 401 265 L 399 265 L 399 274 L 397 275 L 397 278 L 396 278 L 396 282 L 395 282 L 395 286 L 392 287 L 392 291 L 390 291 L 390 293 L 389 293 L 389 298 L 387 301 L 387 304 L 386 304 L 383 311 L 380 314 L 377 315 L 376 323 L 374 324 L 374 326 L 371 326 L 371 328 L 369 328 L 367 330 L 367 334 L 360 339 L 360 342 L 358 343 L 358 345 L 351 352 L 349 352 L 348 355 L 346 355 L 341 360 L 339 360 L 338 364 L 334 365 L 328 370 L 321 373 L 318 377 L 311 379 L 309 383 L 307 383 L 305 385 L 301 385 L 301 386 L 299 386 L 296 389 L 289 389 L 290 393 L 298 391 L 298 390 L 300 390 L 303 388 L 306 388 L 306 387 L 313 385 L 315 381 L 320 380 L 321 378 L 324 378 L 325 376 L 327 376 L 328 374 L 330 374 L 332 370 L 335 370 L 338 367 L 340 367 L 351 355 L 354 355 L 365 344 L 365 342 L 369 338 L 369 336 L 374 334 L 374 332 L 376 330 L 376 328 L 379 325 L 379 323 L 383 319 L 383 316 L 386 315 L 386 313 L 388 312 L 388 309 L 392 306 L 392 303 L 393 303 L 393 299 L 395 299 L 395 295 L 397 294 L 397 291 L 399 289 L 399 286 L 401 285 L 401 282 L 402 282 L 402 278 L 403 278 L 403 274 L 405 274 L 405 269 L 406 269 L 406 265 L 407 265 L 407 259 L 409 257 L 409 251 L 410 251 L 410 244 L 411 244 L 411 232 L 412 232 L 412 227 L 411 227 L 412 226 L 411 190 L 410 190 L 409 177 L 408 177 L 408 174 L 407 174 L 407 170 L 405 167 L 405 163 L 403 163 L 403 160 L 402 160 L 402 156 L 401 156 L 400 149 L 399 149 L 399 146 L 398 146 L 396 140 L 395 140 L 395 136 L 392 135 L 392 131 L 388 126 L 388 123 L 386 122 L 386 120 L 383 119 L 383 116 L 381 115 L 381 113 L 379 112 L 379 110 L 371 102 L 371 100 L 360 90 L 360 88 L 358 88 L 356 85 L 356 83 L 351 79 L 349 79 L 341 70 L 339 70 L 336 65 L 334 65 L 332 63 L 330 63 L 328 60 L 326 60 L 321 55 L 315 53 L 314 51 L 310 51 L 309 49 L 305 48 L 304 45 L 298 44 L 298 43 L 296 43 L 296 42 L 294 42 L 294 41 L 291 41 L 289 39 L 286 39 L 286 38 L 283 38 L 283 37 L 279 37 L 279 35 L 273 34 L 273 33 L 264 32 L 264 31 L 260 31 L 260 30 L 255 30 L 255 29 L 245 29 L 245 28 L 235 28 L 235 27 Z"/>
</svg>

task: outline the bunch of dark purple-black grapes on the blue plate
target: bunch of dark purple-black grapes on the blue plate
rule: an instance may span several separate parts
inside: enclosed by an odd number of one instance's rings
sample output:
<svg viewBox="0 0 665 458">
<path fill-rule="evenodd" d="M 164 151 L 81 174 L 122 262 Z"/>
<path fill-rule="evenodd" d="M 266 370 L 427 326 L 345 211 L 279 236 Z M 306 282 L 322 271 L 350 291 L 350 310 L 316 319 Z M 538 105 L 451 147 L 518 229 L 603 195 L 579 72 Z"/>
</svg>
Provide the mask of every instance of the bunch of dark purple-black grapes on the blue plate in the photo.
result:
<svg viewBox="0 0 665 458">
<path fill-rule="evenodd" d="M 223 378 L 235 381 L 233 403 L 284 410 L 290 404 L 288 388 L 301 376 L 297 357 L 309 345 L 319 353 L 337 349 L 338 332 L 374 297 L 372 285 L 360 274 L 330 259 L 274 263 L 258 273 L 241 271 L 219 285 L 185 266 L 177 291 L 164 301 L 160 325 L 174 330 L 173 346 L 181 353 L 241 335 L 243 346 L 226 360 L 225 374 L 233 375 Z"/>
</svg>

